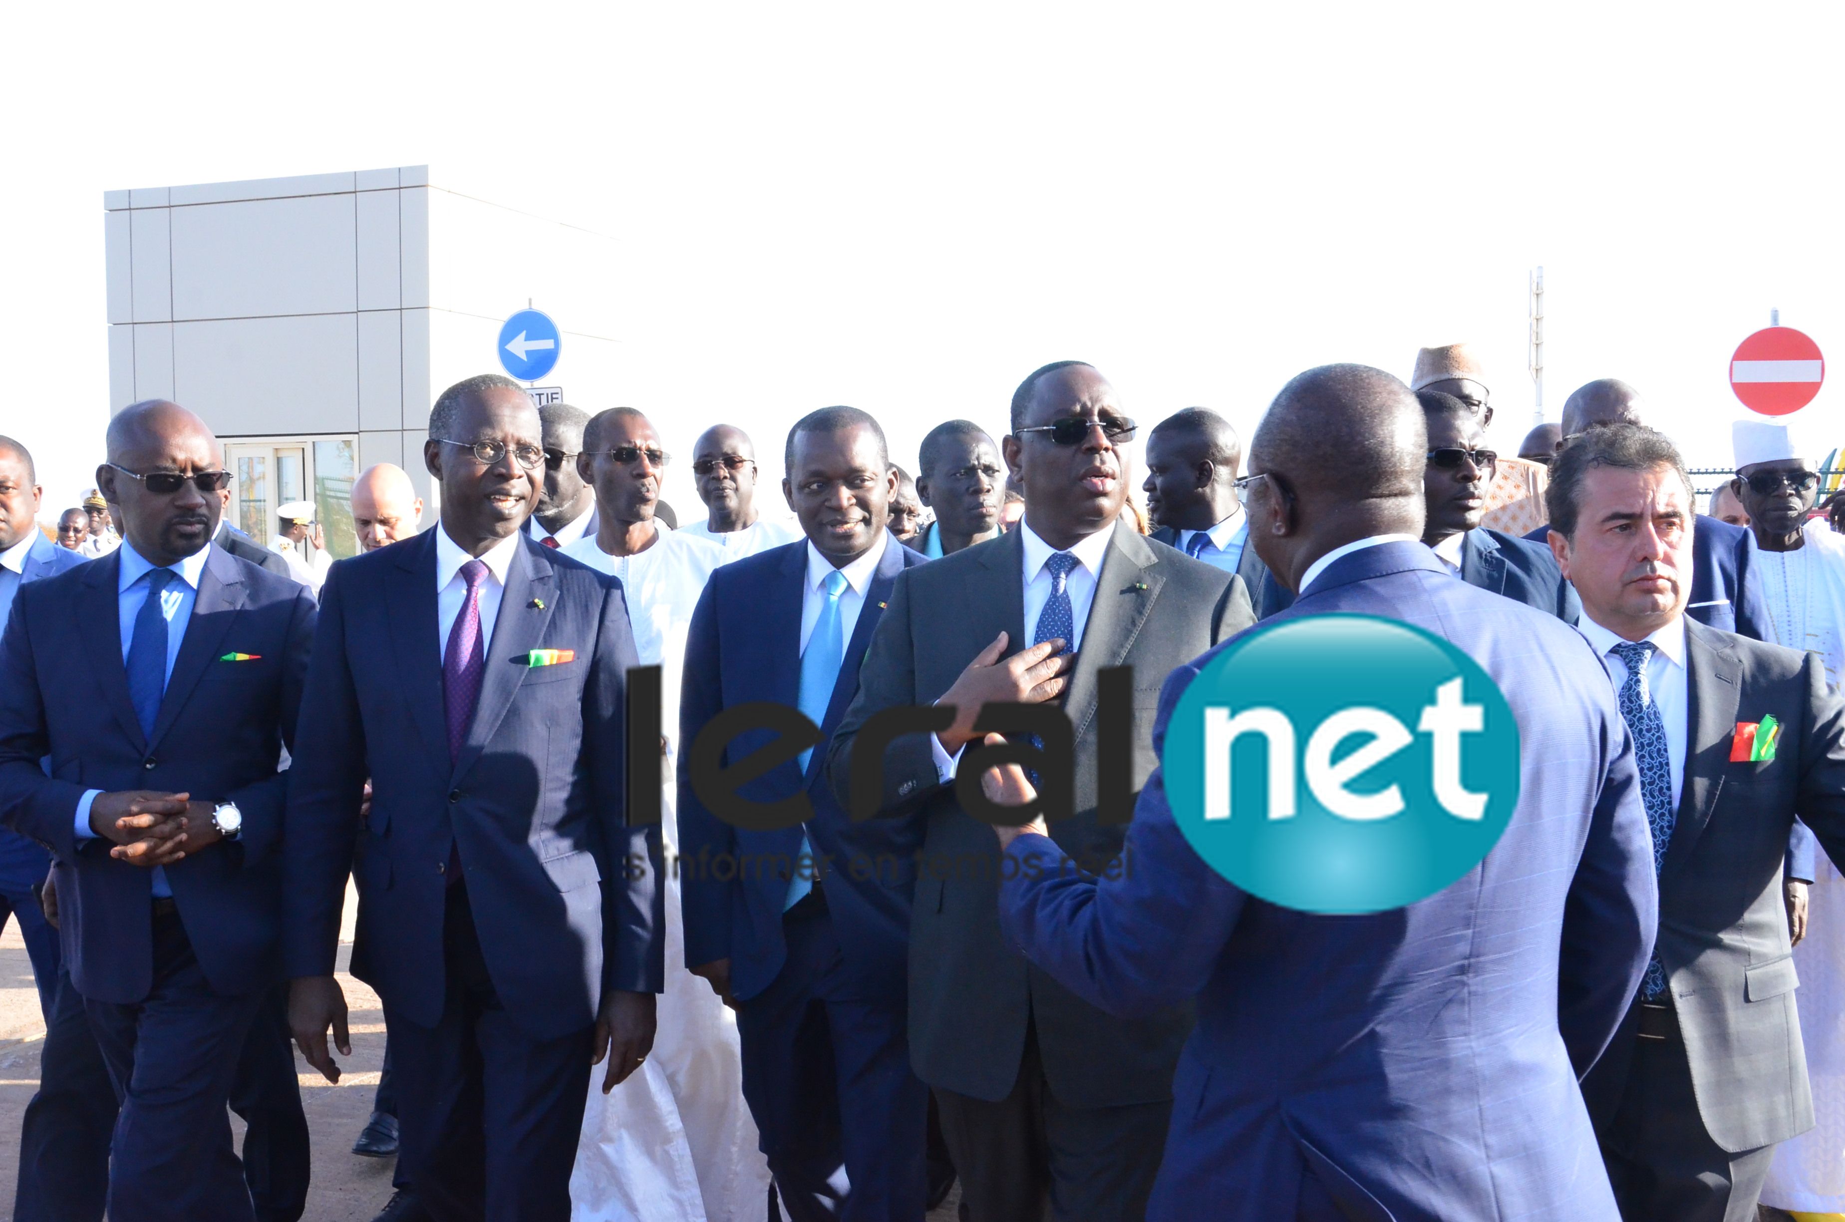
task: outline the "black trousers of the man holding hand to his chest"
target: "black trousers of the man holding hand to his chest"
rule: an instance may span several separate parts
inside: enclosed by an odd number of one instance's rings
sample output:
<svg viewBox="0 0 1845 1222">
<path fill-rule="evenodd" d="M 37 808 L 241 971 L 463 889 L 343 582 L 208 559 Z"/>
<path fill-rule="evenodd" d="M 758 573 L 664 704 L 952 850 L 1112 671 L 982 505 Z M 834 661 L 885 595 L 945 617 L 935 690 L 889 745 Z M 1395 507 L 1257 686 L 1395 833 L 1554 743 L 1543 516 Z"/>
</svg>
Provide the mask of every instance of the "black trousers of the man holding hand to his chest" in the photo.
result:
<svg viewBox="0 0 1845 1222">
<path fill-rule="evenodd" d="M 1105 1056 L 1105 1052 L 1101 1052 Z M 1138 1222 L 1166 1150 L 1172 1100 L 1068 1108 L 1044 1080 L 1028 1030 L 1013 1093 L 987 1102 L 935 1091 L 961 1174 L 963 1222 Z M 1046 1204 L 1050 1205 L 1046 1213 Z"/>
</svg>

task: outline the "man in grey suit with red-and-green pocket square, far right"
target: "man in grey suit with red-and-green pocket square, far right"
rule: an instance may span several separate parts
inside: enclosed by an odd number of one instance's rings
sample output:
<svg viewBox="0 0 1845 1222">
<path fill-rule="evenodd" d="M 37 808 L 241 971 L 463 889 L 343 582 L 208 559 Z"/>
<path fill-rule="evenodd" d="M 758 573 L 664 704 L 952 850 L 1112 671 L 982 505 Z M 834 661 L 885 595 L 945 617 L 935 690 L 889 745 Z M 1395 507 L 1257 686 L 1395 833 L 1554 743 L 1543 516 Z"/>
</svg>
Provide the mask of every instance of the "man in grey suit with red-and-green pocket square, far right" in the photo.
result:
<svg viewBox="0 0 1845 1222">
<path fill-rule="evenodd" d="M 1845 701 L 1817 655 L 1684 615 L 1694 500 L 1662 434 L 1572 437 L 1546 508 L 1659 869 L 1653 960 L 1583 1095 L 1622 1216 L 1749 1222 L 1775 1143 L 1814 1124 L 1780 877 L 1795 818 L 1845 860 Z"/>
</svg>

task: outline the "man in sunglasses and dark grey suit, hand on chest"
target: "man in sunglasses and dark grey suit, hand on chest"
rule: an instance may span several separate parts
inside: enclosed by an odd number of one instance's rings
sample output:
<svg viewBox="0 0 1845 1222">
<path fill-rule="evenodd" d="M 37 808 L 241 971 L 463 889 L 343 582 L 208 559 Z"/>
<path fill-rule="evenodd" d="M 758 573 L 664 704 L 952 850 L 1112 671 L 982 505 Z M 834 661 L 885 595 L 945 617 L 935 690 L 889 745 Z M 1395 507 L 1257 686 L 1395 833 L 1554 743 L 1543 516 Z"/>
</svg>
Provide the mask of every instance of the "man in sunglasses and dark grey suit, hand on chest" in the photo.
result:
<svg viewBox="0 0 1845 1222">
<path fill-rule="evenodd" d="M 1131 790 L 1155 762 L 1161 681 L 1253 622 L 1236 574 L 1116 524 L 1133 430 L 1087 364 L 1024 380 L 1004 441 L 1026 495 L 1020 528 L 899 576 L 832 738 L 843 803 L 852 805 L 854 768 L 869 775 L 882 762 L 880 814 L 928 825 L 910 923 L 910 1048 L 935 1091 L 970 1222 L 1039 1218 L 1046 1200 L 1055 1218 L 1142 1216 L 1192 1026 L 1190 1006 L 1109 1017 L 1006 945 L 998 845 L 954 786 L 983 705 L 1061 698 L 1074 731 L 1074 816 L 1053 834 L 1081 868 L 1118 869 Z M 1120 705 L 1098 711 L 1114 681 L 1100 672 L 1118 666 L 1133 668 L 1118 696 L 1129 709 L 1105 737 L 1100 724 Z M 941 729 L 858 759 L 869 718 L 930 703 L 945 707 Z M 1103 753 L 1118 794 L 1098 783 Z"/>
</svg>

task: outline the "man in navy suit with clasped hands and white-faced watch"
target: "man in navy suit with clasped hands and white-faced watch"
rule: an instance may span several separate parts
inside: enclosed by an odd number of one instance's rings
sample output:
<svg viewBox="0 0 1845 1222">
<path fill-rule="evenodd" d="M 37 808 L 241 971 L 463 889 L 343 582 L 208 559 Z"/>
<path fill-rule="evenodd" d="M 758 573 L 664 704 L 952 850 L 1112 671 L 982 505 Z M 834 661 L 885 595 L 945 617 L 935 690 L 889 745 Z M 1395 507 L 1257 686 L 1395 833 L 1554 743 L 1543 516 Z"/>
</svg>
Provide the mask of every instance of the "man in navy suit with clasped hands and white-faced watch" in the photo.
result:
<svg viewBox="0 0 1845 1222">
<path fill-rule="evenodd" d="M 55 860 L 70 984 L 122 1100 L 118 1220 L 253 1216 L 225 1104 L 279 980 L 277 764 L 315 617 L 210 545 L 220 458 L 177 404 L 120 412 L 98 484 L 122 546 L 24 587 L 0 641 L 0 814 Z M 111 629 L 120 653 L 94 648 Z"/>
</svg>

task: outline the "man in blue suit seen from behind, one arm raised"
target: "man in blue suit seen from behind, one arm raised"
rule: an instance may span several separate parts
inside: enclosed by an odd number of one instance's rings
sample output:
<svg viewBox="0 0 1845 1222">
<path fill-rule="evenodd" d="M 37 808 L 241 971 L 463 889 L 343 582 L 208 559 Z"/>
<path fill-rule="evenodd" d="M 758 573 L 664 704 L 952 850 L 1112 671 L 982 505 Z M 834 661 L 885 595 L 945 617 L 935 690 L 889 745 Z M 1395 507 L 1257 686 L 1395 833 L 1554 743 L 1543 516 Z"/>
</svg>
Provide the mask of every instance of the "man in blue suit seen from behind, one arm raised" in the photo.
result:
<svg viewBox="0 0 1845 1222">
<path fill-rule="evenodd" d="M 1404 620 L 1500 685 L 1524 744 L 1520 790 L 1480 866 L 1387 912 L 1280 908 L 1192 851 L 1159 773 L 1118 879 L 1033 871 L 1033 855 L 1057 860 L 1042 825 L 1000 833 L 1015 858 L 1002 923 L 1026 956 L 1114 1013 L 1196 997 L 1148 1216 L 1616 1216 L 1577 1074 L 1609 1045 L 1653 941 L 1633 748 L 1574 629 L 1456 581 L 1421 545 L 1424 447 L 1397 378 L 1312 369 L 1256 432 L 1249 513 L 1269 570 L 1301 591 L 1277 618 Z M 1214 653 L 1166 681 L 1161 749 Z M 989 794 L 1028 797 L 1006 773 L 987 773 Z"/>
</svg>

